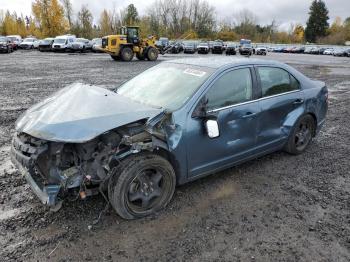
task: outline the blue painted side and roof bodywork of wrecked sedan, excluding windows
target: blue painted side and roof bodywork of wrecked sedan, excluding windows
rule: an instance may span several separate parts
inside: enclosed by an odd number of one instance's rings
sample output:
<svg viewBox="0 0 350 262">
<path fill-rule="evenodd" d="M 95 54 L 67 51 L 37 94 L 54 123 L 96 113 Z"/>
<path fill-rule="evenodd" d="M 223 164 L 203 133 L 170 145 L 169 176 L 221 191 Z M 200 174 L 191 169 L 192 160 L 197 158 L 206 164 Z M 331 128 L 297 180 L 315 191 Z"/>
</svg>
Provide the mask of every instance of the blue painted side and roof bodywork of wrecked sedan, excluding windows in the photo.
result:
<svg viewBox="0 0 350 262">
<path fill-rule="evenodd" d="M 178 164 L 178 184 L 281 150 L 294 124 L 302 115 L 311 114 L 315 118 L 317 132 L 325 121 L 328 98 L 325 83 L 311 80 L 288 65 L 245 58 L 180 59 L 170 62 L 216 69 L 185 106 L 172 112 L 173 124 L 181 130 L 181 135 L 176 138 L 176 146 L 174 141 L 170 143 L 170 154 Z M 201 98 L 223 72 L 258 66 L 286 70 L 298 80 L 300 90 L 262 98 L 259 81 L 253 81 L 253 100 L 217 112 L 220 136 L 209 138 L 203 119 L 192 117 Z M 251 72 L 256 80 L 256 70 Z M 248 112 L 253 115 L 244 117 Z"/>
</svg>

